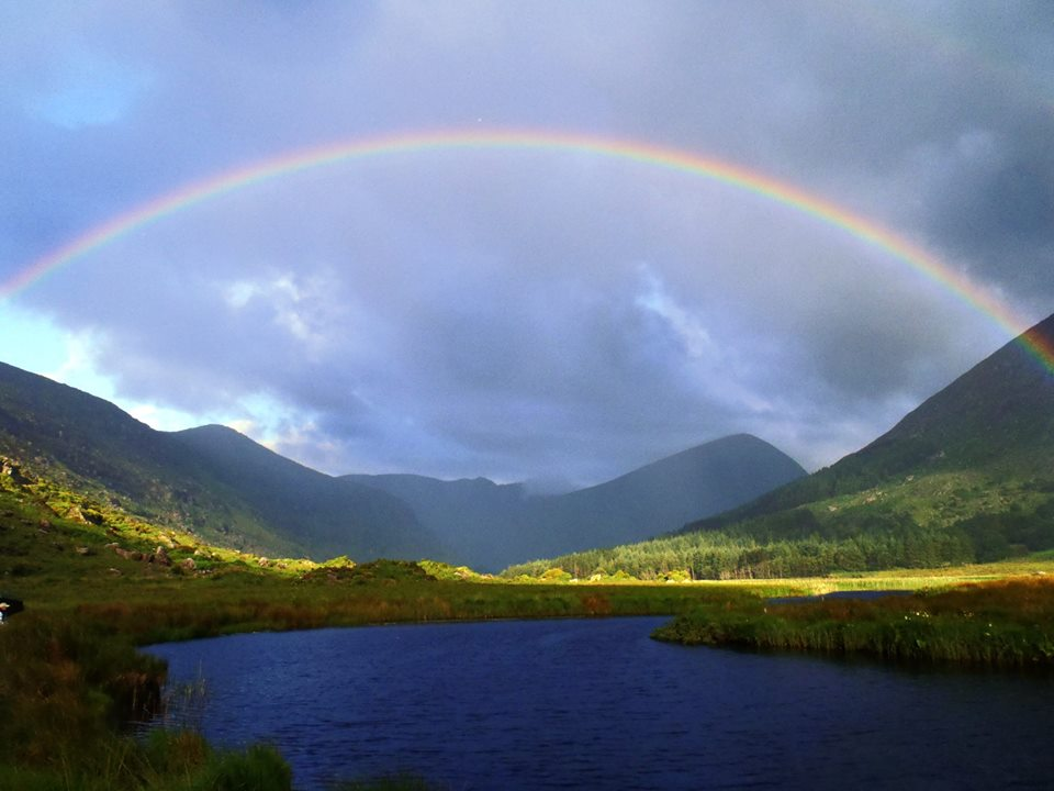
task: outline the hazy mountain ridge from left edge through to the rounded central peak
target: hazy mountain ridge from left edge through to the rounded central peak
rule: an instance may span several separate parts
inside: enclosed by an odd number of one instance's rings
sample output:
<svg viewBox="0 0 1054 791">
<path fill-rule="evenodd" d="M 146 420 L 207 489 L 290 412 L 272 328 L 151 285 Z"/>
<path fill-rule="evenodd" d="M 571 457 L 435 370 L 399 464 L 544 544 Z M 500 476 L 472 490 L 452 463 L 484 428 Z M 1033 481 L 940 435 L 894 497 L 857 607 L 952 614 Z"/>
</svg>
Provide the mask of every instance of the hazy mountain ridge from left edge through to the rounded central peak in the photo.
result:
<svg viewBox="0 0 1054 791">
<path fill-rule="evenodd" d="M 63 486 L 235 549 L 430 557 L 487 570 L 666 532 L 804 475 L 733 435 L 562 494 L 485 478 L 328 476 L 233 428 L 158 432 L 76 388 L 0 364 L 0 453 Z"/>
</svg>

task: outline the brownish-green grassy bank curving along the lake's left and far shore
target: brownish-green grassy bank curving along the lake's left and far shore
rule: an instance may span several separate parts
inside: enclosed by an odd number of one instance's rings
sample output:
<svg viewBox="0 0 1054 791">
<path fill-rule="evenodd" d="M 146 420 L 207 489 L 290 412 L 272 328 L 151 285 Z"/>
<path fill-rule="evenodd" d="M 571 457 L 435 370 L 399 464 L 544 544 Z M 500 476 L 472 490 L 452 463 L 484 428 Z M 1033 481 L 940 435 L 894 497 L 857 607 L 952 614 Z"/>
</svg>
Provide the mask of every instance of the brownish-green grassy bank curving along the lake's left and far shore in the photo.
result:
<svg viewBox="0 0 1054 791">
<path fill-rule="evenodd" d="M 138 561 L 136 576 L 113 576 L 89 561 L 78 559 L 82 573 L 65 584 L 25 577 L 12 591 L 27 609 L 0 627 L 0 788 L 290 788 L 288 767 L 267 747 L 215 750 L 192 733 L 142 742 L 124 731 L 161 705 L 165 668 L 137 645 L 255 630 L 665 614 L 736 595 L 677 586 L 436 580 L 402 562 L 181 575 Z M 401 778 L 349 788 L 424 784 Z"/>
</svg>

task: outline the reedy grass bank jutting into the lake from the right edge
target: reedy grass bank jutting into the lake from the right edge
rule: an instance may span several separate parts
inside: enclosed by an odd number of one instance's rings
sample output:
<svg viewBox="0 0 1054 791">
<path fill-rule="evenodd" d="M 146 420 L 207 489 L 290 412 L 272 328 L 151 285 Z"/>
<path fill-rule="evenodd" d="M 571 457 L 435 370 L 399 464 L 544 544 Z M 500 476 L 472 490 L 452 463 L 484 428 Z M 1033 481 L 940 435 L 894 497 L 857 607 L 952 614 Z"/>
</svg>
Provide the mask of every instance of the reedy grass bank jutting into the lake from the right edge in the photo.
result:
<svg viewBox="0 0 1054 791">
<path fill-rule="evenodd" d="M 1054 669 L 1054 579 L 1013 578 L 870 601 L 704 605 L 654 634 L 685 645 Z"/>
</svg>

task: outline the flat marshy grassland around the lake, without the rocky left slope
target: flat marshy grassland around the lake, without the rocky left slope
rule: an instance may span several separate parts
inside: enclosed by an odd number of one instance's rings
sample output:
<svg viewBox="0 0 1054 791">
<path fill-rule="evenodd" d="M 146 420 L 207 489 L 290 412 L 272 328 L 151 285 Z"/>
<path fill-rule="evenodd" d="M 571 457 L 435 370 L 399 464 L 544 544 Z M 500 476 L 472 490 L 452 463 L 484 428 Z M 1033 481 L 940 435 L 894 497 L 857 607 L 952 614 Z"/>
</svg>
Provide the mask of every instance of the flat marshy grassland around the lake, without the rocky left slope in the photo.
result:
<svg viewBox="0 0 1054 791">
<path fill-rule="evenodd" d="M 1054 578 L 920 590 L 877 601 L 771 604 L 819 589 L 899 587 L 913 577 L 751 584 L 457 582 L 416 566 L 374 565 L 300 577 L 259 570 L 30 586 L 30 608 L 0 628 L 0 788 L 289 789 L 272 749 L 216 750 L 192 733 L 133 738 L 123 725 L 157 711 L 165 668 L 146 642 L 269 628 L 491 617 L 680 613 L 657 634 L 686 644 L 862 654 L 895 660 L 1054 667 Z M 979 573 L 968 569 L 967 573 Z M 957 575 L 930 577 L 957 580 Z M 889 586 L 898 587 L 898 586 Z M 38 598 L 40 597 L 40 598 Z M 419 779 L 349 788 L 424 788 Z M 400 784 L 402 783 L 402 784 Z"/>
</svg>

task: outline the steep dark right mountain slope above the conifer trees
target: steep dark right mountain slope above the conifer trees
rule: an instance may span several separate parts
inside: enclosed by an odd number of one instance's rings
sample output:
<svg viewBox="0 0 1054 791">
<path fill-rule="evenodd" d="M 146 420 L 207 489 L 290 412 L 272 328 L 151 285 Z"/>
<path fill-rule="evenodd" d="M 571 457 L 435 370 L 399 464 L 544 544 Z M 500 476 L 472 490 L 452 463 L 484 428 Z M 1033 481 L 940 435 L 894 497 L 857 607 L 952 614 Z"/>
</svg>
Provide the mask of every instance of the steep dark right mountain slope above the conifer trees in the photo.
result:
<svg viewBox="0 0 1054 791">
<path fill-rule="evenodd" d="M 926 523 L 938 513 L 949 523 L 1014 503 L 1024 508 L 1025 501 L 1036 498 L 1020 497 L 1022 490 L 1039 492 L 1054 486 L 1052 349 L 1054 315 L 927 399 L 861 450 L 685 531 L 713 530 L 875 489 L 882 490 L 876 501 L 909 509 L 915 500 L 909 511 Z M 894 490 L 905 497 L 895 497 Z M 928 502 L 909 497 L 911 492 L 924 494 Z M 839 513 L 837 503 L 831 504 L 837 510 L 830 513 Z M 843 514 L 831 521 L 844 519 Z"/>
</svg>

